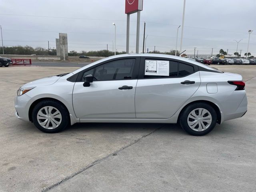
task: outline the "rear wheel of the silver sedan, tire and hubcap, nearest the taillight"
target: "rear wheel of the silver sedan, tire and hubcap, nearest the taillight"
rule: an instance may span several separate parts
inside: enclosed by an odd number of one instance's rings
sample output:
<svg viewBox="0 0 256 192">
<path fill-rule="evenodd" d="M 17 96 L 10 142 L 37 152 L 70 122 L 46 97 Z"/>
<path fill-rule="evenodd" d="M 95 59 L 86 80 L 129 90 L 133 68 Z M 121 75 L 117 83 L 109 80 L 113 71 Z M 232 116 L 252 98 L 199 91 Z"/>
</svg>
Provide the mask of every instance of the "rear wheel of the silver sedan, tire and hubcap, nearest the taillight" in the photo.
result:
<svg viewBox="0 0 256 192">
<path fill-rule="evenodd" d="M 213 130 L 217 114 L 212 106 L 200 102 L 186 107 L 180 116 L 181 127 L 189 134 L 203 136 Z"/>
</svg>

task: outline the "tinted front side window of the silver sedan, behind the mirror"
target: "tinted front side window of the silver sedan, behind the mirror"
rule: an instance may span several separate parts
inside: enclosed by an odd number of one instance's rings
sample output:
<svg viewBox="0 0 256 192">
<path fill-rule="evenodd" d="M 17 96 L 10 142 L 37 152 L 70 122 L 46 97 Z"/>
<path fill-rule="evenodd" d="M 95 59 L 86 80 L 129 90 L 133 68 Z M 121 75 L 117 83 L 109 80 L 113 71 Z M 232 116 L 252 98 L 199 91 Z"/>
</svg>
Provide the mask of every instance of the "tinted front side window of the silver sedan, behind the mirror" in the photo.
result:
<svg viewBox="0 0 256 192">
<path fill-rule="evenodd" d="M 122 59 L 102 64 L 95 68 L 96 81 L 111 81 L 131 79 L 135 66 L 135 59 Z"/>
</svg>

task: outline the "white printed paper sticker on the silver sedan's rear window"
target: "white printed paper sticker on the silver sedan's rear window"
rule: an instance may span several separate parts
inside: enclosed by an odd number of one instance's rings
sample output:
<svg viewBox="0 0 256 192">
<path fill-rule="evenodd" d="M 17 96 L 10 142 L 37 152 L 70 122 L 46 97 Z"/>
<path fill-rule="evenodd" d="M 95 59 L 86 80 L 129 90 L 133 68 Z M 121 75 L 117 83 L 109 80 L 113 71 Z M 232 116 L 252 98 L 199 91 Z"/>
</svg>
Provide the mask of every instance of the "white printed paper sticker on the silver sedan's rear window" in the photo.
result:
<svg viewBox="0 0 256 192">
<path fill-rule="evenodd" d="M 146 60 L 145 75 L 169 76 L 169 61 Z"/>
</svg>

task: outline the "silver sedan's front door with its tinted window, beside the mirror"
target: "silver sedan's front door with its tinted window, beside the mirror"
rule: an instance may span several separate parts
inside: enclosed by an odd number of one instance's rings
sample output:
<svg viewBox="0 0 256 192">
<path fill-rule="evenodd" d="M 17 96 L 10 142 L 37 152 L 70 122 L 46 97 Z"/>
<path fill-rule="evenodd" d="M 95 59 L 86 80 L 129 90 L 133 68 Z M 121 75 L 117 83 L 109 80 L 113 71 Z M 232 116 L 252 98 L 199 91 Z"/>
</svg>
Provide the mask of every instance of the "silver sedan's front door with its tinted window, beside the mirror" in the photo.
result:
<svg viewBox="0 0 256 192">
<path fill-rule="evenodd" d="M 89 87 L 81 78 L 73 90 L 73 106 L 77 118 L 136 118 L 135 90 L 138 81 L 139 57 L 111 60 L 84 70 L 81 77 L 94 76 Z"/>
</svg>

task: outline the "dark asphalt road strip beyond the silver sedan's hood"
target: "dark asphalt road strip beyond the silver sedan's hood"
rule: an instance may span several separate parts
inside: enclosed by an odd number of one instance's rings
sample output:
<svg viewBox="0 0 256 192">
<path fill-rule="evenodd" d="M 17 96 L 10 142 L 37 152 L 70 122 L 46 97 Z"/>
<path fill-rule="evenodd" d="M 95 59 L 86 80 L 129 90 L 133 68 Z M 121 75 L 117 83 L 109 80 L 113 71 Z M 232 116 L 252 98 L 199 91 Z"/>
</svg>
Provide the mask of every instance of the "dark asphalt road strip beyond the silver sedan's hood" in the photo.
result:
<svg viewBox="0 0 256 192">
<path fill-rule="evenodd" d="M 42 66 L 42 67 L 83 67 L 92 62 L 32 62 L 32 66 Z"/>
</svg>

